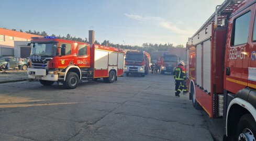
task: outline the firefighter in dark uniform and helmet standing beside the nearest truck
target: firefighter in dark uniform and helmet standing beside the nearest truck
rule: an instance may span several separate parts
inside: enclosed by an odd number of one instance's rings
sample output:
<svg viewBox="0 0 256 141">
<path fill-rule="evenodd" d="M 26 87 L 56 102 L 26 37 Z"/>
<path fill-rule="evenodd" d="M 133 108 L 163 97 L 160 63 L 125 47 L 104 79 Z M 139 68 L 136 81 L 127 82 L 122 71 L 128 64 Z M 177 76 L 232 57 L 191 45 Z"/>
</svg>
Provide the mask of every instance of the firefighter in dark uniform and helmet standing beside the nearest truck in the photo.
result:
<svg viewBox="0 0 256 141">
<path fill-rule="evenodd" d="M 173 77 L 175 79 L 175 96 L 180 97 L 180 93 L 184 88 L 185 69 L 184 62 L 180 62 L 179 65 L 173 71 Z"/>
</svg>

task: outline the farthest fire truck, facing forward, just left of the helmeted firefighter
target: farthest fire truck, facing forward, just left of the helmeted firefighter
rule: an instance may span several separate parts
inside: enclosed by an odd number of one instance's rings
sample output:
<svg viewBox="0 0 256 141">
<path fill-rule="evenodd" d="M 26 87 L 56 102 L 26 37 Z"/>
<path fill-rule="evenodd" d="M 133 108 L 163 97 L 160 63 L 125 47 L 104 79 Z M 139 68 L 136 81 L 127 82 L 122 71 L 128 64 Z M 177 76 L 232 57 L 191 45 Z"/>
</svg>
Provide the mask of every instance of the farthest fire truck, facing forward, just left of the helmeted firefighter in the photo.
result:
<svg viewBox="0 0 256 141">
<path fill-rule="evenodd" d="M 179 61 L 181 61 L 181 58 L 176 54 L 163 54 L 163 56 L 158 56 L 158 68 L 161 70 L 161 74 L 165 72 L 172 73 Z"/>
</svg>

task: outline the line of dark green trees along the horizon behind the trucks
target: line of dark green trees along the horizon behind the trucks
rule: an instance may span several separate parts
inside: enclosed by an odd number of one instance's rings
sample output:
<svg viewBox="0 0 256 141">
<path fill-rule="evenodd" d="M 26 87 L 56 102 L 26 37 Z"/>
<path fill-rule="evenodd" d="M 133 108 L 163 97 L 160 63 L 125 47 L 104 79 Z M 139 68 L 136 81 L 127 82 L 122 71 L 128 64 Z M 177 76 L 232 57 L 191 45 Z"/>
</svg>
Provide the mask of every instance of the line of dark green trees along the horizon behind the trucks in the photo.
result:
<svg viewBox="0 0 256 141">
<path fill-rule="evenodd" d="M 6 29 L 6 28 L 4 28 Z M 16 29 L 12 29 L 14 31 L 16 31 Z M 19 30 L 20 32 L 23 32 L 23 30 Z M 30 34 L 35 34 L 38 36 L 49 36 L 46 31 L 25 31 L 26 33 L 30 33 Z M 51 34 L 51 36 L 56 37 L 57 39 L 64 39 L 64 40 L 72 40 L 72 41 L 77 41 L 77 42 L 84 42 L 84 43 L 89 43 L 88 39 L 82 39 L 82 38 L 76 38 L 76 37 L 72 37 L 71 34 L 66 34 L 66 37 L 64 36 L 56 36 L 55 34 Z M 172 43 L 165 43 L 165 44 L 152 44 L 152 43 L 143 43 L 142 46 L 138 46 L 138 45 L 123 45 L 123 44 L 115 44 L 115 43 L 111 43 L 109 42 L 109 40 L 104 40 L 102 43 L 98 42 L 97 40 L 94 41 L 95 44 L 99 44 L 99 45 L 105 45 L 105 46 L 112 46 L 113 48 L 118 48 L 118 49 L 127 49 L 127 50 L 138 50 L 138 51 L 146 51 L 149 54 L 152 53 L 152 51 L 169 51 L 169 48 L 184 48 L 184 45 L 179 44 L 174 46 Z"/>
</svg>

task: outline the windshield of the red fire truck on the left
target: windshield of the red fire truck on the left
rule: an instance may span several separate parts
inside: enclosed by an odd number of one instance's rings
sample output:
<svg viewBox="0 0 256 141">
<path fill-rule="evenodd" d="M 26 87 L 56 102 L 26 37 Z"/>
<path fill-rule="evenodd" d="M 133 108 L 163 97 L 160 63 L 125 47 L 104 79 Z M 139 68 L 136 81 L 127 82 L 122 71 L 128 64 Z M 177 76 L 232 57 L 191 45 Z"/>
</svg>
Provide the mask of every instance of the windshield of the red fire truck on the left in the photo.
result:
<svg viewBox="0 0 256 141">
<path fill-rule="evenodd" d="M 56 56 L 58 43 L 33 43 L 31 55 Z"/>
</svg>

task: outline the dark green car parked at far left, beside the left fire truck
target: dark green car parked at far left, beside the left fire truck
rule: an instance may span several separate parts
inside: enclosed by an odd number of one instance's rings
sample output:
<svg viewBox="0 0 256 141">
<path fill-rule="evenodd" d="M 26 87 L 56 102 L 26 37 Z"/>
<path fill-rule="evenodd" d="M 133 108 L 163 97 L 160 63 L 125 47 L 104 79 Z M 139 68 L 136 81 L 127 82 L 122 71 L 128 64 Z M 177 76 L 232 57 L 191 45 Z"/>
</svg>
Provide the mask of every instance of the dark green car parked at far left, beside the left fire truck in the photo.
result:
<svg viewBox="0 0 256 141">
<path fill-rule="evenodd" d="M 0 65 L 5 67 L 7 62 L 9 63 L 10 68 L 18 68 L 18 62 L 19 57 L 0 57 Z M 21 65 L 21 69 L 27 70 L 28 68 L 28 61 L 25 58 L 21 58 L 21 62 L 23 63 Z M 0 67 L 0 70 L 2 71 L 2 67 Z"/>
</svg>

